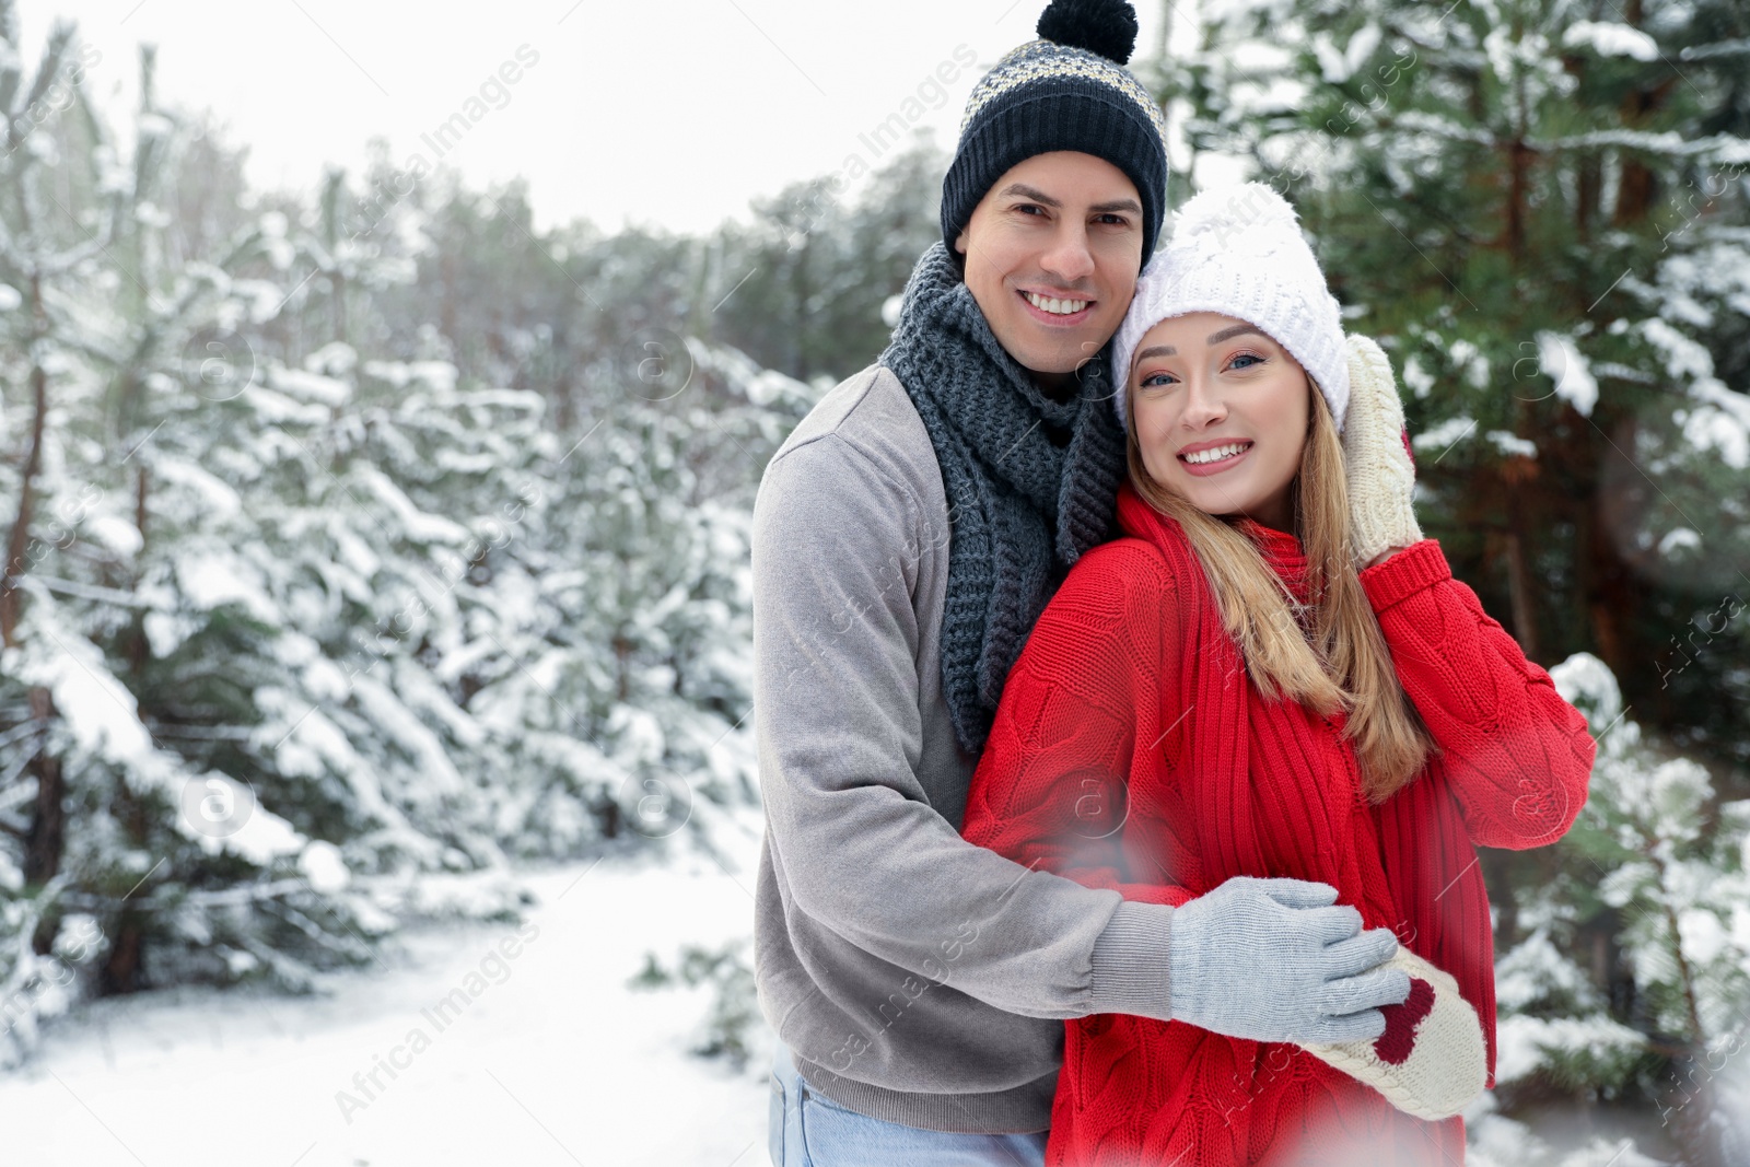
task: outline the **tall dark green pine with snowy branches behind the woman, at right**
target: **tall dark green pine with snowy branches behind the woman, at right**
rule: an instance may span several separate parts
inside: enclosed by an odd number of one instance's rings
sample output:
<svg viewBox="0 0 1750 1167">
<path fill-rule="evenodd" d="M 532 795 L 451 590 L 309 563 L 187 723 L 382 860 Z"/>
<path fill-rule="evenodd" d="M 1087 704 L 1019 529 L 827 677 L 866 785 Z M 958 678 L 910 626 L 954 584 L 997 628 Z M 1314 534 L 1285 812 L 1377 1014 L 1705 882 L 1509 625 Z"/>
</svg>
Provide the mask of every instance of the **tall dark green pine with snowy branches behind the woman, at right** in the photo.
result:
<svg viewBox="0 0 1750 1167">
<path fill-rule="evenodd" d="M 1648 724 L 1750 761 L 1720 619 L 1750 602 L 1750 10 L 1204 10 L 1178 121 L 1295 199 L 1390 345 L 1454 563 L 1533 658 L 1594 651 Z"/>
</svg>

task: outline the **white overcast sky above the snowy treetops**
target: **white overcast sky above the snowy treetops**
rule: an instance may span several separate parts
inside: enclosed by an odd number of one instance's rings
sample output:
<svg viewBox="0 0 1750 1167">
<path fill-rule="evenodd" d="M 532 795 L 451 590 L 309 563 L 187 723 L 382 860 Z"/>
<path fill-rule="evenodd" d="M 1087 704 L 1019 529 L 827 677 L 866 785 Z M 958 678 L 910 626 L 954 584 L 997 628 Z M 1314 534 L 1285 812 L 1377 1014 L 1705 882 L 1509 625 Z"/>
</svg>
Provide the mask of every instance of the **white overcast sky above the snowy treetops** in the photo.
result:
<svg viewBox="0 0 1750 1167">
<path fill-rule="evenodd" d="M 520 45 L 539 54 L 509 101 L 444 161 L 474 182 L 522 175 L 537 224 L 586 215 L 704 231 L 751 198 L 833 173 L 959 45 L 978 65 L 933 126 L 950 147 L 973 80 L 1029 40 L 1045 0 L 21 0 L 26 61 L 58 17 L 103 54 L 88 73 L 131 108 L 138 44 L 164 101 L 208 107 L 250 149 L 261 187 L 308 189 L 387 138 L 397 163 Z M 1143 56 L 1158 0 L 1138 5 Z M 1181 30 L 1183 33 L 1183 30 Z"/>
</svg>

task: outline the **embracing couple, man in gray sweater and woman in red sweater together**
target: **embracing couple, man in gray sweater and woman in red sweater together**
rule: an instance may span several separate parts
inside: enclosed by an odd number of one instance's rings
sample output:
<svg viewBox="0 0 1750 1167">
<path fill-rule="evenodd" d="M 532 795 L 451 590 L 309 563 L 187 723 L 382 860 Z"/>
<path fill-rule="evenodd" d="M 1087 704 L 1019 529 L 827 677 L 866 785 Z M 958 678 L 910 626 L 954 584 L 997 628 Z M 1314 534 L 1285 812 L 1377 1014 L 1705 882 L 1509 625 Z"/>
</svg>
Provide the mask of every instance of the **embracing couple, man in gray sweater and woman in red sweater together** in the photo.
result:
<svg viewBox="0 0 1750 1167">
<path fill-rule="evenodd" d="M 1166 217 L 1122 0 L 973 89 L 878 364 L 754 513 L 775 1167 L 1461 1164 L 1477 845 L 1586 721 L 1412 509 L 1269 187 Z"/>
</svg>

